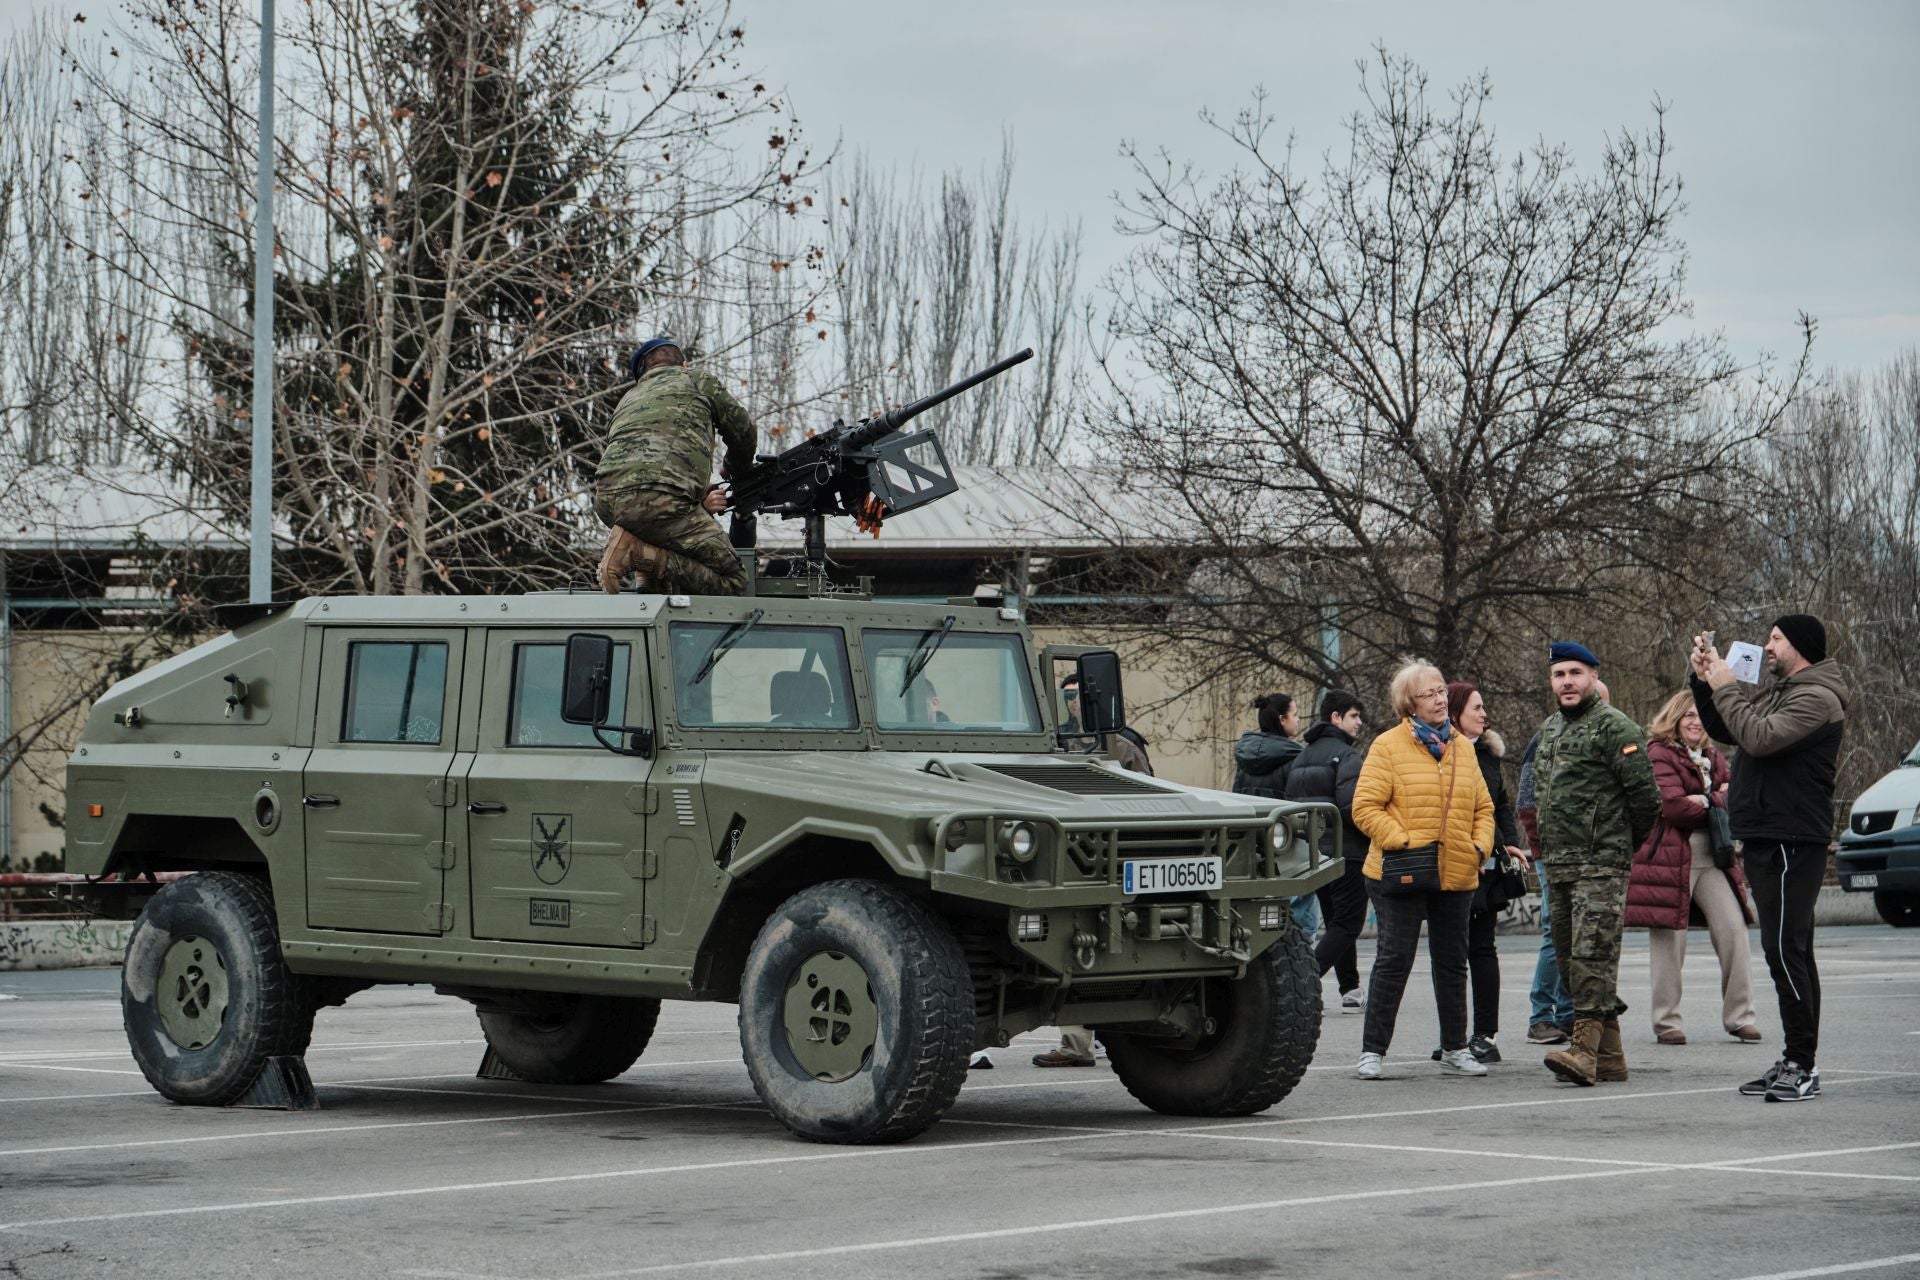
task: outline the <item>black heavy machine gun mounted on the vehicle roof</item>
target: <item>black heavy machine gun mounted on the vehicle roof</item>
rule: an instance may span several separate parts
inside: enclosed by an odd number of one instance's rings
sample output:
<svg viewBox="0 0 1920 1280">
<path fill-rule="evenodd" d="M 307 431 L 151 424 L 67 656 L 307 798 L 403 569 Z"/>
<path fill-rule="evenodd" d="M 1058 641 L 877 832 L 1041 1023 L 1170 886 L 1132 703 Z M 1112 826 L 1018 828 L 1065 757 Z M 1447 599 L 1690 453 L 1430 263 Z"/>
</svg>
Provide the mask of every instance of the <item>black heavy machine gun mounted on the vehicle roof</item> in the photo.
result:
<svg viewBox="0 0 1920 1280">
<path fill-rule="evenodd" d="M 900 428 L 927 409 L 1029 359 L 1033 347 L 1016 351 L 910 405 L 876 413 L 852 426 L 835 422 L 831 430 L 803 439 L 783 453 L 760 455 L 745 476 L 732 478 L 728 507 L 733 510 L 730 530 L 733 547 L 751 555 L 758 541 L 760 514 L 804 520 L 806 570 L 812 578 L 824 578 L 828 516 L 851 516 L 858 528 L 877 532 L 887 516 L 925 507 L 960 487 L 947 464 L 939 436 L 931 430 L 902 436 Z"/>
</svg>

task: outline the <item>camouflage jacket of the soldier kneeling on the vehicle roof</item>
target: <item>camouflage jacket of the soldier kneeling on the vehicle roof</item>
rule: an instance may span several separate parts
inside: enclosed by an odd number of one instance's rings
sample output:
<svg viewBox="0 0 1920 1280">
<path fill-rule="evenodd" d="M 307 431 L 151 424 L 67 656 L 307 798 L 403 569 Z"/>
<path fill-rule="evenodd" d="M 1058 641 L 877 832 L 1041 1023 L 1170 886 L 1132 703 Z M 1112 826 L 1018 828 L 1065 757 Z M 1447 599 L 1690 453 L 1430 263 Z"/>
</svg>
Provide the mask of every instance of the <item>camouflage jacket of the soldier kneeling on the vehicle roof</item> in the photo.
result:
<svg viewBox="0 0 1920 1280">
<path fill-rule="evenodd" d="M 753 466 L 753 418 L 703 368 L 660 365 L 641 374 L 612 413 L 597 489 L 657 489 L 699 503 L 714 470 L 714 430 L 726 439 L 728 474 Z"/>
</svg>

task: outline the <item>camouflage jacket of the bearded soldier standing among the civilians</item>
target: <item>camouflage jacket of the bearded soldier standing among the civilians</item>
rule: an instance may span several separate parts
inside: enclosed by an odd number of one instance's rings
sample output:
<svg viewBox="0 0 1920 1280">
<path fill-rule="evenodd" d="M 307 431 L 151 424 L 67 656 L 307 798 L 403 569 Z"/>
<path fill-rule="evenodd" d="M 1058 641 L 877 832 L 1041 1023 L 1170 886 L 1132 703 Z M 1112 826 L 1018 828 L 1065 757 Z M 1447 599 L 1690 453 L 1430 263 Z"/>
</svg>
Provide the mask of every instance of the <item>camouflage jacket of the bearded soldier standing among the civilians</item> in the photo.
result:
<svg viewBox="0 0 1920 1280">
<path fill-rule="evenodd" d="M 1548 716 L 1534 754 L 1534 804 L 1549 862 L 1626 867 L 1661 812 L 1640 725 L 1597 697 Z"/>
</svg>

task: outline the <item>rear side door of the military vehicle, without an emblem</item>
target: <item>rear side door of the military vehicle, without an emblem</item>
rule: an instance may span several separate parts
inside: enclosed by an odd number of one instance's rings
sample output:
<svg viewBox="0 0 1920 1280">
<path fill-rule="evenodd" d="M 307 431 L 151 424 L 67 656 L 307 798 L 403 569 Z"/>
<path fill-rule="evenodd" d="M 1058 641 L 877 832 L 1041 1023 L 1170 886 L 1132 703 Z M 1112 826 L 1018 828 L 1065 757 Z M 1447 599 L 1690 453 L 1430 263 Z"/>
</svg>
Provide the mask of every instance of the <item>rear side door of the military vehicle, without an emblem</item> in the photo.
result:
<svg viewBox="0 0 1920 1280">
<path fill-rule="evenodd" d="M 307 923 L 444 933 L 461 628 L 328 628 L 303 775 Z"/>
</svg>

